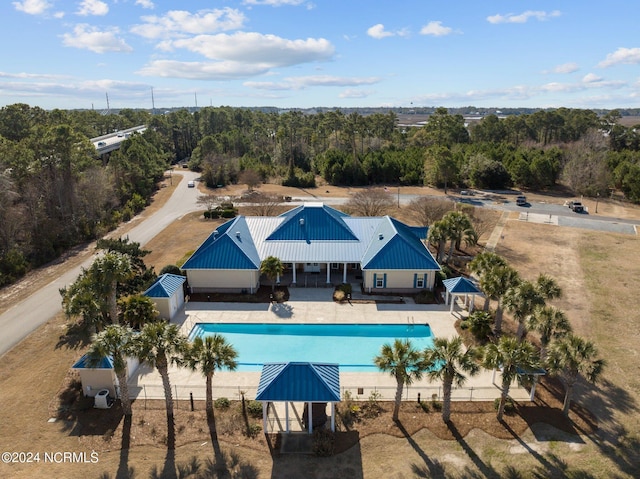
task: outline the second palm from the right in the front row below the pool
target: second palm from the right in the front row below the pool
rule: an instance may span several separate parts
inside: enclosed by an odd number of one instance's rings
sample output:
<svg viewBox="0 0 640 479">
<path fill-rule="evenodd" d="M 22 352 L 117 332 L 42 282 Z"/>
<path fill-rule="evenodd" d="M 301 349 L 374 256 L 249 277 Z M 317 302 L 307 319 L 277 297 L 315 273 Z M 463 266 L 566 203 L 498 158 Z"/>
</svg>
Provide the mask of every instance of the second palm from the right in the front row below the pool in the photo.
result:
<svg viewBox="0 0 640 479">
<path fill-rule="evenodd" d="M 511 383 L 514 379 L 521 381 L 526 376 L 522 371 L 538 367 L 538 355 L 531 343 L 502 336 L 497 343 L 485 347 L 483 365 L 488 369 L 502 370 L 502 391 L 497 415 L 498 421 L 502 421 Z"/>
</svg>

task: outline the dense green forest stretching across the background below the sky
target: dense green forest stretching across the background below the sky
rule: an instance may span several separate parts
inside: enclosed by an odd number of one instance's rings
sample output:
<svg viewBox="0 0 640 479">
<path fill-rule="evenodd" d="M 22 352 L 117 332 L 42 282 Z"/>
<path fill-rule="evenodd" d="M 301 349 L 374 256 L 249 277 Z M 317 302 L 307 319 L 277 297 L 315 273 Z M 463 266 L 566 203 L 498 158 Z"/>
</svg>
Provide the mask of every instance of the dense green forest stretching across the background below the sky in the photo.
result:
<svg viewBox="0 0 640 479">
<path fill-rule="evenodd" d="M 446 108 L 423 126 L 392 110 L 205 107 L 164 115 L 0 109 L 0 285 L 101 237 L 148 203 L 165 169 L 186 162 L 210 187 L 260 181 L 313 187 L 404 184 L 621 191 L 640 201 L 640 133 L 619 111 L 538 110 L 466 124 Z M 147 125 L 111 154 L 89 141 Z"/>
</svg>

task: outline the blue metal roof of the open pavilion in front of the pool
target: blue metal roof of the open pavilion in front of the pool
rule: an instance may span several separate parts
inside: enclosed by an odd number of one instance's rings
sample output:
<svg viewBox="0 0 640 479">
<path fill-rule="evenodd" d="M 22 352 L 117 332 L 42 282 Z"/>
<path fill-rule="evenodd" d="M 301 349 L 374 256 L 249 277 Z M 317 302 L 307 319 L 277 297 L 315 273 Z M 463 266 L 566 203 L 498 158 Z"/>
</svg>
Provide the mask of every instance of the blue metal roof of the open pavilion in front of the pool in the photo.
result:
<svg viewBox="0 0 640 479">
<path fill-rule="evenodd" d="M 338 365 L 267 363 L 262 367 L 256 400 L 339 402 Z"/>
</svg>

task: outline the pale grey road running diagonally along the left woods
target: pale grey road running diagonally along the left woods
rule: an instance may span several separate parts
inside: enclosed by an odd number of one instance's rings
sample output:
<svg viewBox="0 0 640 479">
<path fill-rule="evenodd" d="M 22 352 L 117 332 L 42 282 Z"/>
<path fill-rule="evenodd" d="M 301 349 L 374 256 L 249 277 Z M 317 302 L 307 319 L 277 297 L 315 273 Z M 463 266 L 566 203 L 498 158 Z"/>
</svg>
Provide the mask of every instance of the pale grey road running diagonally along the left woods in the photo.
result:
<svg viewBox="0 0 640 479">
<path fill-rule="evenodd" d="M 177 218 L 202 208 L 197 204 L 198 189 L 187 187 L 187 181 L 198 178 L 199 174 L 187 170 L 174 170 L 173 175 L 176 174 L 183 175 L 184 179 L 165 205 L 149 218 L 142 220 L 141 217 L 136 217 L 132 220 L 139 224 L 126 235 L 131 241 L 144 246 Z M 177 179 L 174 176 L 174 181 Z M 88 268 L 93 260 L 94 257 L 87 259 L 81 266 L 34 291 L 0 315 L 0 356 L 61 311 L 60 288 L 73 283 L 81 268 Z"/>
</svg>

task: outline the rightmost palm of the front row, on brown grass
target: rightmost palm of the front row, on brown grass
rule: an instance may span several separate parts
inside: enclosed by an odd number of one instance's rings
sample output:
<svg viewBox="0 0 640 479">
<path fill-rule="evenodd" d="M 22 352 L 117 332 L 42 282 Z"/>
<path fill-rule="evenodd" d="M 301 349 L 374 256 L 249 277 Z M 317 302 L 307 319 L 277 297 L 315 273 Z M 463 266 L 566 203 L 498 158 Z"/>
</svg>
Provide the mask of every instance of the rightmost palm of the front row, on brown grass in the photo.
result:
<svg viewBox="0 0 640 479">
<path fill-rule="evenodd" d="M 580 376 L 595 383 L 606 365 L 604 359 L 598 359 L 598 350 L 591 341 L 580 336 L 568 334 L 555 341 L 549 348 L 547 368 L 553 375 L 560 376 L 565 385 L 562 412 L 569 415 L 573 388 Z"/>
</svg>

